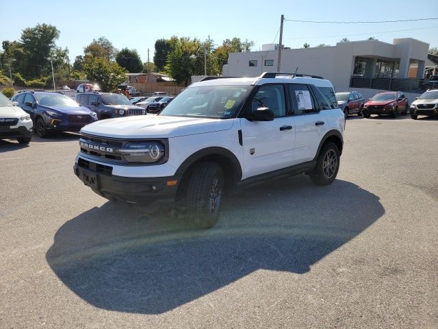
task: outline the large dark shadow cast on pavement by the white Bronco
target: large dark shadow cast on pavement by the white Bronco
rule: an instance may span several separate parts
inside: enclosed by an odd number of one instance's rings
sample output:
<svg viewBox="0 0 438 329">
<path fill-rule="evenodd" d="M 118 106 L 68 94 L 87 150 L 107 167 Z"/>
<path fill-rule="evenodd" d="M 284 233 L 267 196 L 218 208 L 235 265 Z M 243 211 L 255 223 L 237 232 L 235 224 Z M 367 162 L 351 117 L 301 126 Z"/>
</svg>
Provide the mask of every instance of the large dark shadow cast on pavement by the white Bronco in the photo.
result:
<svg viewBox="0 0 438 329">
<path fill-rule="evenodd" d="M 96 307 L 159 314 L 258 269 L 306 273 L 384 212 L 355 184 L 317 187 L 300 175 L 227 197 L 210 230 L 107 202 L 67 221 L 46 258 Z"/>
</svg>

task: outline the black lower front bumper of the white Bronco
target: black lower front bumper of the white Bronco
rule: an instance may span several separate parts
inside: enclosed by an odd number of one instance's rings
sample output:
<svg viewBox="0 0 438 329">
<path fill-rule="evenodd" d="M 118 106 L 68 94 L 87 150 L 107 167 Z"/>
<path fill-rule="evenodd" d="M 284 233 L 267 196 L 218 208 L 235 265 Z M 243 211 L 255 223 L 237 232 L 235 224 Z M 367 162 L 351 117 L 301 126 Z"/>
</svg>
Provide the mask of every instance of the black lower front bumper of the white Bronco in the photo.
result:
<svg viewBox="0 0 438 329">
<path fill-rule="evenodd" d="M 155 178 L 116 176 L 112 175 L 111 166 L 81 160 L 75 163 L 73 171 L 83 184 L 107 199 L 145 206 L 175 202 L 181 180 L 181 175 Z"/>
</svg>

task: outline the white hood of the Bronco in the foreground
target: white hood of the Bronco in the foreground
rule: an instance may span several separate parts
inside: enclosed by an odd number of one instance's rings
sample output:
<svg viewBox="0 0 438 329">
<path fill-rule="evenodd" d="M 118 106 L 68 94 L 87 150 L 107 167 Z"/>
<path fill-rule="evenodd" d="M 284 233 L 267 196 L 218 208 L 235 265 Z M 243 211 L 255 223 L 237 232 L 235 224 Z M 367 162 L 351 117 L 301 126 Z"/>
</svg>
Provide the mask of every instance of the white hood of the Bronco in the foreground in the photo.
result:
<svg viewBox="0 0 438 329">
<path fill-rule="evenodd" d="M 114 138 L 172 138 L 229 130 L 232 119 L 204 119 L 139 115 L 96 121 L 81 129 L 84 134 Z"/>
</svg>

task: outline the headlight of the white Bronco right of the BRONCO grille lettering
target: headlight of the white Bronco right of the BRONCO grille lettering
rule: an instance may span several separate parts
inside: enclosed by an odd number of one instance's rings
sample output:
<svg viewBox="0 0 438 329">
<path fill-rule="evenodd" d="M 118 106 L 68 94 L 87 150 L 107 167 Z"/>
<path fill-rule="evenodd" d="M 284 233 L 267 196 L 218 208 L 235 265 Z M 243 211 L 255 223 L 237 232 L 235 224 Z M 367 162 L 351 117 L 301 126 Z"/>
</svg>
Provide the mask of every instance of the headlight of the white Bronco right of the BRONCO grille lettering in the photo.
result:
<svg viewBox="0 0 438 329">
<path fill-rule="evenodd" d="M 131 142 L 120 149 L 127 162 L 157 162 L 164 157 L 164 146 L 159 142 Z"/>
</svg>

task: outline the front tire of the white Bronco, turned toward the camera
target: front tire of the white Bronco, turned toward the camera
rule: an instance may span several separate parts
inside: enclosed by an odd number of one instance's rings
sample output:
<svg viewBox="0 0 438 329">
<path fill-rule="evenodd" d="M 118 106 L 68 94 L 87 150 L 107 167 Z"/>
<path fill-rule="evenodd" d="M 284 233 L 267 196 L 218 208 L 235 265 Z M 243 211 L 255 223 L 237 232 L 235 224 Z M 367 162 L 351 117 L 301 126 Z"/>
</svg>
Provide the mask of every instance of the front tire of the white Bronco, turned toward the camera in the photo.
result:
<svg viewBox="0 0 438 329">
<path fill-rule="evenodd" d="M 219 217 L 224 175 L 216 162 L 199 162 L 188 182 L 186 215 L 196 228 L 211 228 Z"/>
</svg>

